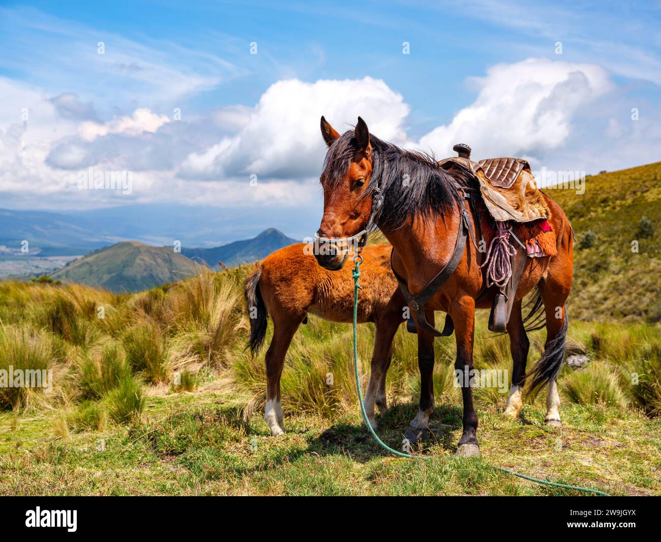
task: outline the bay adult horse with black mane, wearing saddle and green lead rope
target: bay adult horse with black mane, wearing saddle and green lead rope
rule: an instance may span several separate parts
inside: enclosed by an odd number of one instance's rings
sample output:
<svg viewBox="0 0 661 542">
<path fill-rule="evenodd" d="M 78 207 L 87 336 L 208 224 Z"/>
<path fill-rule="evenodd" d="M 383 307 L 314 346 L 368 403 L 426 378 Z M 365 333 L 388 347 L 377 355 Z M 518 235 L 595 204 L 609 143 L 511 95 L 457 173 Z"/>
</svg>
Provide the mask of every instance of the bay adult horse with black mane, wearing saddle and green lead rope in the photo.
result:
<svg viewBox="0 0 661 542">
<path fill-rule="evenodd" d="M 394 271 L 403 277 L 410 294 L 420 293 L 449 261 L 460 232 L 462 210 L 467 211 L 467 220 L 472 222 L 473 231 L 477 231 L 479 216 L 475 216 L 463 195 L 474 181 L 458 171 L 442 169 L 426 154 L 402 150 L 379 140 L 369 134 L 368 126 L 360 117 L 355 130 L 348 130 L 341 136 L 322 117 L 321 133 L 329 150 L 321 175 L 324 214 L 317 235 L 327 239 L 346 238 L 373 222 L 395 248 Z M 532 377 L 531 388 L 549 385 L 545 422 L 559 425 L 556 379 L 563 363 L 567 330 L 564 304 L 572 285 L 572 233 L 563 210 L 549 197 L 544 197 L 551 210 L 549 223 L 556 235 L 557 255 L 526 258 L 507 324 L 514 370 L 506 412 L 516 417 L 522 408 L 529 342 L 521 302 L 525 294 L 536 287 L 545 311 L 547 339 L 544 353 L 529 376 Z M 373 204 L 375 201 L 378 204 Z M 338 247 L 335 252 L 320 253 L 317 261 L 322 267 L 336 269 L 344 257 Z M 434 326 L 434 310 L 443 310 L 455 326 L 455 369 L 457 375 L 463 375 L 460 379 L 463 435 L 457 454 L 465 456 L 479 455 L 477 414 L 469 374 L 473 370 L 475 308 L 489 308 L 494 298 L 494 293 L 490 293 L 476 301 L 485 281 L 479 267 L 484 259 L 485 254 L 467 242 L 454 273 L 424 305 L 423 313 Z M 416 327 L 422 382 L 418 414 L 405 432 L 412 443 L 426 435 L 434 410 L 434 336 L 424 332 L 417 319 Z"/>
</svg>

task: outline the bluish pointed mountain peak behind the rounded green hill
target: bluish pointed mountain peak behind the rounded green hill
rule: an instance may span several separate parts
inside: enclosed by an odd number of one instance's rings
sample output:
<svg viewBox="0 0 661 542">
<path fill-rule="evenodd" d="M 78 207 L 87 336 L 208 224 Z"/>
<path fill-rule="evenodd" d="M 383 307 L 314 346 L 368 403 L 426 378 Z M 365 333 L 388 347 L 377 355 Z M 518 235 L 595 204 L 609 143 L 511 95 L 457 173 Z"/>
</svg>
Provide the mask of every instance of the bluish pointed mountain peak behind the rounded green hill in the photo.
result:
<svg viewBox="0 0 661 542">
<path fill-rule="evenodd" d="M 182 248 L 181 253 L 192 259 L 200 259 L 209 267 L 217 267 L 219 261 L 227 267 L 233 267 L 262 259 L 279 248 L 298 242 L 275 228 L 269 228 L 253 239 L 235 241 L 216 248 Z"/>
</svg>

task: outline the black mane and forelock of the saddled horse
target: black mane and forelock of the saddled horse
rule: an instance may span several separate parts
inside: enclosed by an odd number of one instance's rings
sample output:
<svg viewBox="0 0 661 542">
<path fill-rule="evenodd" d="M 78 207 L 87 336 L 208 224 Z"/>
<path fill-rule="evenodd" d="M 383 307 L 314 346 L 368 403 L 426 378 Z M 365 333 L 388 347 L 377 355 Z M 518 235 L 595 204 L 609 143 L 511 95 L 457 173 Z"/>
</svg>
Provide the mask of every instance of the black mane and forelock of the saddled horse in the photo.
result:
<svg viewBox="0 0 661 542">
<path fill-rule="evenodd" d="M 433 156 L 401 149 L 369 134 L 372 174 L 363 197 L 381 187 L 383 204 L 374 215 L 375 224 L 386 230 L 401 228 L 413 216 L 442 216 L 457 205 L 465 179 L 458 172 L 438 167 Z M 340 185 L 356 154 L 354 131 L 348 130 L 329 148 L 321 183 L 331 190 Z M 408 179 L 408 183 L 405 180 Z"/>
</svg>

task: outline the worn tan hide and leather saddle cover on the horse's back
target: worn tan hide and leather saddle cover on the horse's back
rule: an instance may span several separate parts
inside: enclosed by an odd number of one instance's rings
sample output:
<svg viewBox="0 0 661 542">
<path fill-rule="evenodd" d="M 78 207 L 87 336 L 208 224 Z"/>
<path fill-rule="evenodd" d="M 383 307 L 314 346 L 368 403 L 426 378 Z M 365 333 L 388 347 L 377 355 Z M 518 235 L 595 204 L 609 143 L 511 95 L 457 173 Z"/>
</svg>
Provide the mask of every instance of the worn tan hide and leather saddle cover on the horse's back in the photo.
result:
<svg viewBox="0 0 661 542">
<path fill-rule="evenodd" d="M 458 166 L 477 178 L 482 199 L 495 220 L 529 222 L 550 218 L 549 206 L 524 159 L 490 158 L 475 162 L 469 158 L 446 158 L 439 165 L 444 169 Z"/>
</svg>

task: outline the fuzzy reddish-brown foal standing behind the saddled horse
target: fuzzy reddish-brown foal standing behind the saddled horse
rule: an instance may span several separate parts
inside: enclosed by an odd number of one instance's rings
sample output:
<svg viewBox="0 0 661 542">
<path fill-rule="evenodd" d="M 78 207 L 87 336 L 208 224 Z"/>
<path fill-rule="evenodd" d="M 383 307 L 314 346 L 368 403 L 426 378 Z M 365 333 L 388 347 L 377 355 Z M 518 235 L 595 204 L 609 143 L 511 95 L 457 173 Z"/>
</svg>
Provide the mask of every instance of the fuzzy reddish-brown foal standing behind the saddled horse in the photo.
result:
<svg viewBox="0 0 661 542">
<path fill-rule="evenodd" d="M 266 334 L 266 316 L 273 320 L 273 338 L 266 351 L 266 412 L 264 419 L 272 435 L 282 435 L 280 375 L 285 355 L 298 326 L 307 322 L 307 313 L 332 322 L 352 322 L 354 281 L 348 267 L 337 273 L 317 265 L 303 243 L 275 251 L 246 279 L 245 297 L 250 316 L 249 347 L 257 353 Z M 361 269 L 365 285 L 360 292 L 358 322 L 374 322 L 374 350 L 371 359 L 365 408 L 372 424 L 374 405 L 386 408 L 385 376 L 393 355 L 392 343 L 399 324 L 404 322 L 406 301 L 390 268 L 389 246 L 364 249 Z"/>
</svg>

